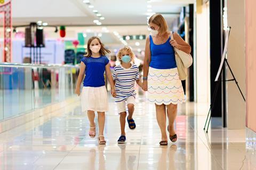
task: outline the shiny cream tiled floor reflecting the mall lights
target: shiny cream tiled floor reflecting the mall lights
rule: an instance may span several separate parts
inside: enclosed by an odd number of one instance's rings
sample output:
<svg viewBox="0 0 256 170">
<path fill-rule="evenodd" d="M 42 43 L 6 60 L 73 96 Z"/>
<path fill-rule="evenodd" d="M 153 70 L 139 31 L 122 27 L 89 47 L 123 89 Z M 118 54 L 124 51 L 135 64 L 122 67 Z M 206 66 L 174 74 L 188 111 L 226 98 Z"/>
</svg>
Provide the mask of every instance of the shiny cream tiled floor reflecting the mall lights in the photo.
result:
<svg viewBox="0 0 256 170">
<path fill-rule="evenodd" d="M 0 169 L 256 169 L 255 139 L 245 144 L 245 130 L 227 131 L 213 119 L 209 133 L 203 131 L 207 104 L 179 106 L 178 142 L 161 147 L 154 105 L 143 95 L 137 103 L 137 128 L 126 127 L 126 144 L 116 142 L 119 116 L 113 100 L 106 116 L 106 146 L 87 135 L 88 120 L 77 102 L 50 119 L 0 134 Z"/>
</svg>

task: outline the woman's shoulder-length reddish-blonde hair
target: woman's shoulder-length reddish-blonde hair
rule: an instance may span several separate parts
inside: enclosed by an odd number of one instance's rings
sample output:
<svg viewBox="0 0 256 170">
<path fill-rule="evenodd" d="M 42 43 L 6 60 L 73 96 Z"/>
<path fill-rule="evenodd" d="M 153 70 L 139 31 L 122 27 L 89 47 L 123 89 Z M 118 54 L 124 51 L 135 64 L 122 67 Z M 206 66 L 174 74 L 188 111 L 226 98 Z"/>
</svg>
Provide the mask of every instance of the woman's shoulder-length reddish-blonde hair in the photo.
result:
<svg viewBox="0 0 256 170">
<path fill-rule="evenodd" d="M 163 15 L 161 15 L 159 13 L 152 15 L 148 20 L 148 24 L 150 22 L 155 23 L 155 25 L 159 26 L 159 29 L 158 29 L 159 35 L 163 35 L 163 34 L 167 33 L 168 26 L 167 26 L 167 22 L 164 19 Z"/>
</svg>

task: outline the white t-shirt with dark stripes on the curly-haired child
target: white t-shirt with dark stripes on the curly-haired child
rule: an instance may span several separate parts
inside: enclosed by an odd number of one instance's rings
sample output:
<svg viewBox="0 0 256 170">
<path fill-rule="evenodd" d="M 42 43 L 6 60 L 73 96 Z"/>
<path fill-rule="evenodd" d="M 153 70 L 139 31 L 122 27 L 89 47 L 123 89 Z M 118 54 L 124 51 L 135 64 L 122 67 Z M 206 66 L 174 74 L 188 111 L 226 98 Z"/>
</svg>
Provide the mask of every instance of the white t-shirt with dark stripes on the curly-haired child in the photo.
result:
<svg viewBox="0 0 256 170">
<path fill-rule="evenodd" d="M 135 80 L 140 79 L 138 66 L 132 64 L 128 69 L 123 68 L 121 65 L 116 66 L 113 72 L 113 79 L 116 80 L 116 102 L 124 101 L 130 96 L 135 98 Z"/>
</svg>

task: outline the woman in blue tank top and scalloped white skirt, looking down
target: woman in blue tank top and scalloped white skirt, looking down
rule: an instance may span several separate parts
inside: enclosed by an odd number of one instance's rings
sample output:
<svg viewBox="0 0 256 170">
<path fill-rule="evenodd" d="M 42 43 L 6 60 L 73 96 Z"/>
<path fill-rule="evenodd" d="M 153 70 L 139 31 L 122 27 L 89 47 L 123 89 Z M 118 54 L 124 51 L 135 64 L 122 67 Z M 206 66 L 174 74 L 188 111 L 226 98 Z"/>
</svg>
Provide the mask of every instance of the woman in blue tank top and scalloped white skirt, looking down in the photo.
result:
<svg viewBox="0 0 256 170">
<path fill-rule="evenodd" d="M 177 33 L 173 33 L 174 39 L 171 40 L 171 33 L 161 14 L 152 15 L 148 25 L 151 35 L 146 40 L 143 90 L 148 91 L 148 100 L 155 103 L 157 123 L 162 133 L 159 144 L 167 145 L 166 114 L 170 140 L 176 142 L 178 136 L 174 131 L 174 120 L 177 104 L 186 101 L 173 47 L 186 53 L 191 52 L 191 47 Z"/>
</svg>

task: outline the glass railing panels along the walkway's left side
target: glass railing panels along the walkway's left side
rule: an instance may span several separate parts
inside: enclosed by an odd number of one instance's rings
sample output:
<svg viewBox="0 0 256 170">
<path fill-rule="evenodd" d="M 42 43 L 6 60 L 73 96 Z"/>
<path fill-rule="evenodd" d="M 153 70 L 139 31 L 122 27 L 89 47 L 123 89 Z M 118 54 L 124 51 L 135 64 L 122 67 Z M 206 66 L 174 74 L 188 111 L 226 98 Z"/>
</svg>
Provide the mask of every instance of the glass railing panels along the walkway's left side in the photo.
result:
<svg viewBox="0 0 256 170">
<path fill-rule="evenodd" d="M 74 95 L 75 66 L 0 63 L 0 120 Z"/>
</svg>

